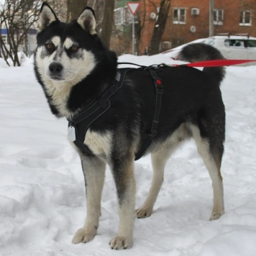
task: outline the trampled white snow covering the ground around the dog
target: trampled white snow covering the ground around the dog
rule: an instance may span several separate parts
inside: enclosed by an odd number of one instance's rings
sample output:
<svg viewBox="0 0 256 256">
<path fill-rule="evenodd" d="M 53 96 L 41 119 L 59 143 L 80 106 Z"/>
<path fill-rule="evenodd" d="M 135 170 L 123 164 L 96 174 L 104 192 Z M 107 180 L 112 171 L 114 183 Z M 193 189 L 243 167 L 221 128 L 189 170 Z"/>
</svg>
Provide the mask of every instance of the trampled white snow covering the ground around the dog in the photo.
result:
<svg viewBox="0 0 256 256">
<path fill-rule="evenodd" d="M 119 61 L 171 63 L 164 55 Z M 148 219 L 136 219 L 131 250 L 112 251 L 118 228 L 109 169 L 98 234 L 71 244 L 86 214 L 81 164 L 35 81 L 32 60 L 7 68 L 0 60 L 0 255 L 256 255 L 256 66 L 227 68 L 221 85 L 227 109 L 222 163 L 226 214 L 209 221 L 212 188 L 192 141 L 175 152 Z M 188 81 L 189 82 L 189 81 Z M 150 188 L 150 156 L 135 163 L 137 207 Z"/>
</svg>

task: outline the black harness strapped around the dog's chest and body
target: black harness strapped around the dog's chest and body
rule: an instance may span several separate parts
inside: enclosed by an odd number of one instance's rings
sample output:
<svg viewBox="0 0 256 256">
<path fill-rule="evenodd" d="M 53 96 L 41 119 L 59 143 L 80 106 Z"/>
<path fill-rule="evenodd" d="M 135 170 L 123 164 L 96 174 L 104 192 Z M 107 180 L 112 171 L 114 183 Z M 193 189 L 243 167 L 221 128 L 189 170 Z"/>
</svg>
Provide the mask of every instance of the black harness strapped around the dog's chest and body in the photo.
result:
<svg viewBox="0 0 256 256">
<path fill-rule="evenodd" d="M 119 64 L 137 65 L 133 63 L 119 63 Z M 148 67 L 141 66 L 141 65 L 138 65 L 138 66 L 140 66 L 140 68 L 143 68 L 144 70 L 150 71 L 155 84 L 156 98 L 155 98 L 155 114 L 152 120 L 150 133 L 147 134 L 147 137 L 142 142 L 140 149 L 135 155 L 135 160 L 140 159 L 140 157 L 142 157 L 145 154 L 147 148 L 150 146 L 152 142 L 152 138 L 157 135 L 157 124 L 159 120 L 161 100 L 163 95 L 162 81 L 160 80 L 160 78 L 157 76 L 157 73 L 155 72 L 155 68 L 163 67 L 163 64 L 150 65 Z M 124 78 L 127 72 L 129 72 L 129 70 L 134 70 L 134 68 L 118 69 L 116 73 L 116 78 L 114 79 L 113 83 L 99 97 L 99 99 L 95 99 L 90 104 L 88 104 L 88 106 L 86 106 L 83 109 L 83 111 L 81 111 L 81 113 L 74 116 L 72 119 L 68 119 L 68 137 L 70 138 L 71 141 L 73 141 L 76 147 L 78 147 L 79 150 L 81 150 L 81 152 L 85 152 L 87 155 L 93 156 L 93 152 L 91 152 L 88 146 L 83 143 L 86 137 L 86 132 L 88 128 L 91 126 L 91 124 L 95 122 L 97 119 L 99 119 L 99 117 L 102 116 L 110 108 L 111 96 L 113 96 L 120 88 L 122 88 L 122 85 L 124 83 Z"/>
</svg>

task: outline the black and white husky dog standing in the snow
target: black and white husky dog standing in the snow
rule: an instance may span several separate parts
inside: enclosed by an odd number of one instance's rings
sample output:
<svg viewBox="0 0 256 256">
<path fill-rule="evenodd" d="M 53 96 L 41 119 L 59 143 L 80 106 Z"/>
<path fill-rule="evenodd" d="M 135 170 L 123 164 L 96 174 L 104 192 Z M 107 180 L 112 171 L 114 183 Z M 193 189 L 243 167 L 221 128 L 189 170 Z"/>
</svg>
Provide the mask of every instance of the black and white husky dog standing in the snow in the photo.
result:
<svg viewBox="0 0 256 256">
<path fill-rule="evenodd" d="M 209 45 L 196 44 L 184 48 L 180 58 L 193 62 L 222 56 Z M 93 9 L 86 7 L 77 20 L 66 24 L 44 3 L 38 22 L 35 75 L 52 114 L 68 119 L 70 142 L 81 157 L 87 215 L 73 243 L 89 242 L 96 235 L 108 164 L 119 206 L 119 231 L 110 246 L 116 250 L 132 247 L 134 217 L 152 214 L 168 157 L 191 137 L 212 180 L 210 219 L 224 214 L 220 168 L 225 111 L 219 89 L 223 68 L 201 71 L 160 65 L 117 69 L 116 54 L 97 35 Z M 86 121 L 94 112 L 98 114 Z M 134 159 L 147 153 L 152 154 L 152 185 L 145 203 L 135 211 Z"/>
</svg>

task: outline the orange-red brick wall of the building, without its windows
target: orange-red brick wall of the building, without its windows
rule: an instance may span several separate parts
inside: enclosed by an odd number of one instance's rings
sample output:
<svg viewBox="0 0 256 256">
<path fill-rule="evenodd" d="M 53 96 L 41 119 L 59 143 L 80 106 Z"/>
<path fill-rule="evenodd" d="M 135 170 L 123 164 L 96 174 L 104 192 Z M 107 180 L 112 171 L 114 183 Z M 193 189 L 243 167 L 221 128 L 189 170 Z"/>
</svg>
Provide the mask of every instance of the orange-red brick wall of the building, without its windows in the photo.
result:
<svg viewBox="0 0 256 256">
<path fill-rule="evenodd" d="M 157 7 L 160 0 L 140 1 L 140 19 L 145 20 L 140 38 L 140 54 L 144 54 L 145 48 L 149 46 L 155 20 L 150 18 L 150 14 L 157 14 Z M 185 24 L 173 23 L 174 9 L 186 9 Z M 198 15 L 191 15 L 191 9 L 199 9 Z M 224 19 L 222 24 L 214 24 L 214 35 L 218 33 L 230 32 L 232 35 L 237 33 L 250 33 L 256 37 L 256 1 L 255 0 L 215 0 L 214 9 L 222 9 Z M 250 11 L 252 23 L 250 25 L 239 24 L 240 12 Z M 145 16 L 144 16 L 145 15 Z M 145 18 L 144 18 L 145 17 Z M 171 42 L 172 47 L 183 43 L 196 40 L 198 38 L 209 37 L 209 0 L 172 0 L 168 21 L 162 41 Z M 162 45 L 162 50 L 166 50 Z"/>
</svg>

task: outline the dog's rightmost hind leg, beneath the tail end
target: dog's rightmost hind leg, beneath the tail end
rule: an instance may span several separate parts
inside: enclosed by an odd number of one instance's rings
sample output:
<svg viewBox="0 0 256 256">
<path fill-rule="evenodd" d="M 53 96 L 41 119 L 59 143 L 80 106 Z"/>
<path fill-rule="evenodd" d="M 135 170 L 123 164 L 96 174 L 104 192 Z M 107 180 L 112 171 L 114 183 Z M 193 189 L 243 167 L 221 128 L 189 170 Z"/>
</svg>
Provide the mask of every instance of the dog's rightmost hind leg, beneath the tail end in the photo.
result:
<svg viewBox="0 0 256 256">
<path fill-rule="evenodd" d="M 216 129 L 216 126 L 209 125 L 208 129 Z M 214 206 L 210 220 L 219 219 L 224 214 L 224 192 L 220 170 L 221 158 L 224 152 L 224 134 L 223 136 L 217 136 L 214 131 L 211 131 L 209 132 L 211 135 L 208 138 L 202 138 L 198 127 L 192 126 L 191 130 L 193 138 L 196 140 L 198 152 L 209 171 L 214 191 Z"/>
</svg>

